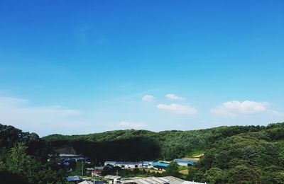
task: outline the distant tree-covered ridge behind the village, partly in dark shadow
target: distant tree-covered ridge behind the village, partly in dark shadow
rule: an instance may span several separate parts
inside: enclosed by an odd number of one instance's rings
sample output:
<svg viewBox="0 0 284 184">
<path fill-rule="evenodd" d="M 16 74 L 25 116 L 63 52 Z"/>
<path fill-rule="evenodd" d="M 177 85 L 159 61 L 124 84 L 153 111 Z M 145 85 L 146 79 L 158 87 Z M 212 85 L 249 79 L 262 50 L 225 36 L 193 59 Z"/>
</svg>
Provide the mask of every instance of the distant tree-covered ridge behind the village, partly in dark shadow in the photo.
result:
<svg viewBox="0 0 284 184">
<path fill-rule="evenodd" d="M 171 160 L 204 150 L 218 140 L 240 133 L 258 132 L 260 126 L 216 127 L 207 130 L 163 131 L 117 130 L 96 134 L 43 137 L 54 147 L 73 146 L 75 150 L 97 161 Z"/>
</svg>

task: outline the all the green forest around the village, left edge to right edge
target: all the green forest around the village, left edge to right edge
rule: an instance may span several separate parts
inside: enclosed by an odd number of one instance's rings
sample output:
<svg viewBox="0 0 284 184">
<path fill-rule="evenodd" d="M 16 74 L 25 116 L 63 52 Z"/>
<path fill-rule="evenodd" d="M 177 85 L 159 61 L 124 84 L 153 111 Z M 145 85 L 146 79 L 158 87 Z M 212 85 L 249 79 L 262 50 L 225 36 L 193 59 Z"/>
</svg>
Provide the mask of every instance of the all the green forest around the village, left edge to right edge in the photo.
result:
<svg viewBox="0 0 284 184">
<path fill-rule="evenodd" d="M 0 145 L 1 178 L 5 176 L 26 183 L 63 183 L 63 171 L 47 159 L 54 149 L 66 146 L 72 146 L 77 154 L 83 154 L 97 164 L 106 160 L 170 161 L 201 151 L 204 156 L 189 168 L 187 180 L 284 183 L 284 123 L 192 131 L 53 134 L 42 139 L 37 134 L 0 125 Z M 165 174 L 178 176 L 173 169 Z"/>
</svg>

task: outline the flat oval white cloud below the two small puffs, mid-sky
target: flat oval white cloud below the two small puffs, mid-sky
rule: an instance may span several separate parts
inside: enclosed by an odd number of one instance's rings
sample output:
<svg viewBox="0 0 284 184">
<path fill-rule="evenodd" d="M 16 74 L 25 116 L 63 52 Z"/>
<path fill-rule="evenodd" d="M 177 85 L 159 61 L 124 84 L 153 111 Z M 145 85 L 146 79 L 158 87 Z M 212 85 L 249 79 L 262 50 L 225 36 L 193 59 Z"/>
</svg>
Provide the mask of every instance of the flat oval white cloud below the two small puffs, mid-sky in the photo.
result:
<svg viewBox="0 0 284 184">
<path fill-rule="evenodd" d="M 159 104 L 157 105 L 157 108 L 175 114 L 195 115 L 198 113 L 198 111 L 195 108 L 192 108 L 189 105 L 179 105 L 175 103 Z"/>
</svg>

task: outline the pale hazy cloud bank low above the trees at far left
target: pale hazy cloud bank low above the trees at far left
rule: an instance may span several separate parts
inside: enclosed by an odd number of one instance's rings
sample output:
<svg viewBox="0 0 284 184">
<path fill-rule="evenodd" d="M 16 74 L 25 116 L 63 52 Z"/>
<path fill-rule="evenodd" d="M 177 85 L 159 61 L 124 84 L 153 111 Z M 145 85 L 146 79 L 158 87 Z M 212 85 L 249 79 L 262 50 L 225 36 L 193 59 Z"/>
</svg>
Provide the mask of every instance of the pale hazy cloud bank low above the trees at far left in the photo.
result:
<svg viewBox="0 0 284 184">
<path fill-rule="evenodd" d="M 80 110 L 60 105 L 38 106 L 26 99 L 0 97 L 0 123 L 38 134 L 80 128 L 85 123 L 78 119 L 81 114 Z"/>
</svg>

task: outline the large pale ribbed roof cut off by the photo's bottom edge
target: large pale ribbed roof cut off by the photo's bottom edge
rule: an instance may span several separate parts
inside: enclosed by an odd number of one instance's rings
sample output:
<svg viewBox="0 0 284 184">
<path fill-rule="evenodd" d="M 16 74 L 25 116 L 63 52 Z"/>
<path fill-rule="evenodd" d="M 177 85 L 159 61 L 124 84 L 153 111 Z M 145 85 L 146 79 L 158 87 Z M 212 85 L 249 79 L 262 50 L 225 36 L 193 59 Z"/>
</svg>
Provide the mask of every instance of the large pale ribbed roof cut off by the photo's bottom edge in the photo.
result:
<svg viewBox="0 0 284 184">
<path fill-rule="evenodd" d="M 202 184 L 194 181 L 186 181 L 173 176 L 166 177 L 147 177 L 147 178 L 133 178 L 129 180 L 119 180 L 119 184 Z"/>
</svg>

